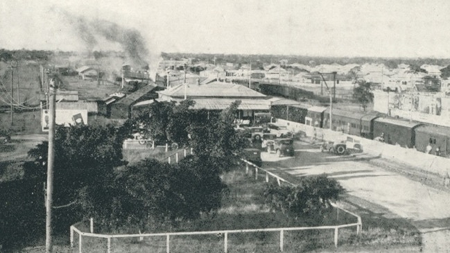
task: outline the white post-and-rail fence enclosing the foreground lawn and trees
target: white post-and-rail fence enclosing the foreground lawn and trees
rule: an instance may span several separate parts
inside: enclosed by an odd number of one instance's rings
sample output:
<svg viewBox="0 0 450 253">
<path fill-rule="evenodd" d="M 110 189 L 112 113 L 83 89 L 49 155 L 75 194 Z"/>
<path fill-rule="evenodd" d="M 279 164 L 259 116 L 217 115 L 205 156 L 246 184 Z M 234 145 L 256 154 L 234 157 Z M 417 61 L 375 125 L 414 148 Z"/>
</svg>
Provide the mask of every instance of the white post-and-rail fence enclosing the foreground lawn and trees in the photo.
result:
<svg viewBox="0 0 450 253">
<path fill-rule="evenodd" d="M 191 149 L 192 152 L 192 149 Z M 176 153 L 178 157 L 178 152 Z M 186 156 L 186 149 L 184 149 L 184 156 Z M 168 157 L 170 158 L 170 157 Z M 278 175 L 275 175 L 274 173 L 271 173 L 270 171 L 267 171 L 266 169 L 260 168 L 259 166 L 256 166 L 255 164 L 252 164 L 251 162 L 246 161 L 245 159 L 241 159 L 243 162 L 245 162 L 245 173 L 248 174 L 249 172 L 249 166 L 254 167 L 254 175 L 255 178 L 259 178 L 259 171 L 263 171 L 266 173 L 266 182 L 269 182 L 269 177 L 274 177 L 275 180 L 277 180 L 277 183 L 280 185 L 282 182 L 286 184 L 294 185 L 291 182 L 288 182 L 287 180 L 284 180 L 282 177 L 279 177 Z M 169 160 L 170 161 L 170 160 Z M 339 229 L 343 229 L 346 227 L 356 227 L 356 234 L 360 235 L 362 231 L 362 220 L 361 216 L 356 215 L 355 213 L 352 213 L 351 211 L 347 211 L 345 209 L 342 209 L 338 207 L 336 204 L 333 204 L 334 207 L 337 209 L 337 213 L 339 210 L 342 210 L 346 213 L 349 213 L 349 215 L 354 216 L 356 218 L 356 223 L 350 223 L 350 224 L 344 224 L 344 225 L 334 225 L 334 226 L 319 226 L 319 227 L 277 227 L 277 228 L 268 228 L 268 229 L 235 229 L 235 230 L 216 230 L 216 231 L 200 231 L 200 232 L 171 232 L 171 233 L 155 233 L 155 234 L 95 234 L 94 233 L 94 220 L 90 220 L 90 232 L 82 232 L 80 229 L 76 228 L 77 225 L 80 223 L 76 223 L 75 225 L 71 225 L 70 227 L 70 245 L 73 247 L 74 245 L 74 237 L 75 233 L 78 234 L 78 252 L 83 252 L 83 237 L 94 237 L 94 238 L 105 238 L 107 240 L 107 253 L 112 252 L 112 238 L 139 238 L 139 240 L 143 240 L 144 237 L 165 237 L 166 238 L 166 253 L 170 252 L 170 245 L 171 245 L 171 238 L 174 236 L 194 236 L 194 235 L 208 235 L 208 234 L 215 234 L 215 235 L 223 235 L 224 241 L 223 241 L 223 250 L 225 253 L 228 252 L 228 234 L 241 234 L 241 233 L 254 233 L 254 232 L 279 232 L 279 250 L 283 252 L 284 247 L 284 232 L 285 231 L 301 231 L 301 230 L 333 230 L 334 231 L 334 246 L 338 247 L 338 235 L 339 235 Z"/>
</svg>

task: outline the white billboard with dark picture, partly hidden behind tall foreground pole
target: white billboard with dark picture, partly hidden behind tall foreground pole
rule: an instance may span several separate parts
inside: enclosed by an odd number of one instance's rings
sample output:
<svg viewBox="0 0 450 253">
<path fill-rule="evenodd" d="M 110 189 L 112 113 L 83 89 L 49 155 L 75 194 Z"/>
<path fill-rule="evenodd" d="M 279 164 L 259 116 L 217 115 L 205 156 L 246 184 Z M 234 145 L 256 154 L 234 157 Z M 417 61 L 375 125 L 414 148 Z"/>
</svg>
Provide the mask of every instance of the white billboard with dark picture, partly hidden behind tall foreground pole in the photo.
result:
<svg viewBox="0 0 450 253">
<path fill-rule="evenodd" d="M 56 125 L 87 125 L 87 110 L 56 110 Z M 42 132 L 49 132 L 50 110 L 42 110 Z"/>
</svg>

